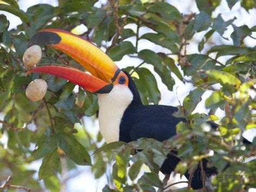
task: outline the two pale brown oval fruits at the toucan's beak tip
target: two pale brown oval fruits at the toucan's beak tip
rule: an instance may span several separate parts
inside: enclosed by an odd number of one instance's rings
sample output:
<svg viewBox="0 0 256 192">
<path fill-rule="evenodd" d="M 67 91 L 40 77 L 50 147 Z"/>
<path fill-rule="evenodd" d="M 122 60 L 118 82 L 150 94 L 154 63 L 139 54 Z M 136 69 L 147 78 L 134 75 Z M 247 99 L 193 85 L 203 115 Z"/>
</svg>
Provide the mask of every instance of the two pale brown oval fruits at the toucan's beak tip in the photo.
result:
<svg viewBox="0 0 256 192">
<path fill-rule="evenodd" d="M 42 50 L 38 45 L 33 45 L 28 48 L 23 55 L 23 63 L 27 69 L 34 68 L 36 64 L 40 62 L 42 58 Z M 29 83 L 26 89 L 26 96 L 31 101 L 42 100 L 47 91 L 47 83 L 42 79 L 38 78 Z"/>
</svg>

